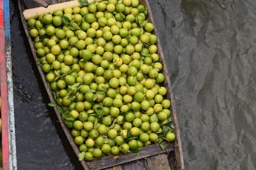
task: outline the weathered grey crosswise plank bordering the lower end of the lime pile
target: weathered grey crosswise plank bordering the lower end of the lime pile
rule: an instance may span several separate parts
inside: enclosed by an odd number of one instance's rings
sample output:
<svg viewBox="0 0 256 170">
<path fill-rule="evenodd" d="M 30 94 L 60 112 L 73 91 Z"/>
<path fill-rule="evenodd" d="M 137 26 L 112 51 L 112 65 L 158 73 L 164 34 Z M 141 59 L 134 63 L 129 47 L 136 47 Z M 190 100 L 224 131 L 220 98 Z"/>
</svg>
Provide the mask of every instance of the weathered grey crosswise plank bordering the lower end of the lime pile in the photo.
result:
<svg viewBox="0 0 256 170">
<path fill-rule="evenodd" d="M 149 145 L 149 146 L 140 148 L 140 155 L 136 155 L 132 152 L 129 152 L 126 154 L 120 153 L 118 155 L 119 159 L 116 159 L 116 160 L 114 160 L 113 155 L 111 155 L 108 157 L 104 157 L 104 159 L 95 159 L 92 162 L 86 162 L 86 163 L 90 167 L 90 169 L 97 170 L 97 169 L 104 169 L 107 167 L 117 166 L 120 164 L 124 164 L 124 163 L 131 162 L 138 159 L 143 159 L 153 155 L 158 155 L 159 153 L 166 153 L 166 152 L 169 153 L 173 151 L 174 149 L 173 143 L 169 143 L 165 141 L 162 144 L 164 145 L 164 150 L 162 150 L 158 144 L 154 144 L 154 145 Z"/>
</svg>

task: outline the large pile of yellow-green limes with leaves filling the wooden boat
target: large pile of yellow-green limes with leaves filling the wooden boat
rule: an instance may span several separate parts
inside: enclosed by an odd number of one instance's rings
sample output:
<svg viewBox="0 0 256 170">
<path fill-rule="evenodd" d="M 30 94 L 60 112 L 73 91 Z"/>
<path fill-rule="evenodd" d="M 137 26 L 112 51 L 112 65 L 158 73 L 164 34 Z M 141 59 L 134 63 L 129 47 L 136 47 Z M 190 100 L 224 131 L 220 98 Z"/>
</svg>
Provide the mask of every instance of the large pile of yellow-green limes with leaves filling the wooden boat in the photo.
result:
<svg viewBox="0 0 256 170">
<path fill-rule="evenodd" d="M 28 20 L 79 160 L 175 139 L 157 36 L 146 17 L 139 0 L 108 0 Z"/>
</svg>

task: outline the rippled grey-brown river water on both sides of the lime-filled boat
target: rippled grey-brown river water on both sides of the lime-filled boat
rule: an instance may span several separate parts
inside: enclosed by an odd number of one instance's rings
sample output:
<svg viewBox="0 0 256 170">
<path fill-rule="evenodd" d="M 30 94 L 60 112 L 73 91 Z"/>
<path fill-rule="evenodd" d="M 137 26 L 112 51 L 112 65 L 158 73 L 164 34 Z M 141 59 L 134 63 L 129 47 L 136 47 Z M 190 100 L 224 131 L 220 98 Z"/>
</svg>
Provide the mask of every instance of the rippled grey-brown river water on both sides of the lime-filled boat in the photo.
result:
<svg viewBox="0 0 256 170">
<path fill-rule="evenodd" d="M 163 45 L 186 169 L 256 169 L 256 1 L 149 0 Z M 80 169 L 12 0 L 19 169 Z"/>
</svg>

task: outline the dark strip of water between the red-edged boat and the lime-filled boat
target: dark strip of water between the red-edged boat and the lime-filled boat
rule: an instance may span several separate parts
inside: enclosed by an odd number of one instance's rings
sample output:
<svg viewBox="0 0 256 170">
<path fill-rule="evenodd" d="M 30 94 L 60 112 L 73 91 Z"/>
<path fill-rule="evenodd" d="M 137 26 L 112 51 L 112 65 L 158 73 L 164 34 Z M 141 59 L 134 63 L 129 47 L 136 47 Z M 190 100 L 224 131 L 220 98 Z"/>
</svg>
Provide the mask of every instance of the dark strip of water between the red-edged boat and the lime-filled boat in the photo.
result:
<svg viewBox="0 0 256 170">
<path fill-rule="evenodd" d="M 81 169 L 36 69 L 17 1 L 11 1 L 13 87 L 19 169 Z M 68 153 L 68 154 L 67 154 Z"/>
</svg>

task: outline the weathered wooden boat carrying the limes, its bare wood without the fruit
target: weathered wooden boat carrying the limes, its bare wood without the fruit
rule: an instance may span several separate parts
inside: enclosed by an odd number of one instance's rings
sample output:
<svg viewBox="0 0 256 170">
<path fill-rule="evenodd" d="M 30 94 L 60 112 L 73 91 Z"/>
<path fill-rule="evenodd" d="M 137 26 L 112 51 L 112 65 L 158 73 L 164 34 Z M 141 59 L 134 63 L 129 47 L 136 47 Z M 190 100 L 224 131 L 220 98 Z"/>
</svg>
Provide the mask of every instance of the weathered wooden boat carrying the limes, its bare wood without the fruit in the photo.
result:
<svg viewBox="0 0 256 170">
<path fill-rule="evenodd" d="M 34 0 L 37 1 L 37 0 Z M 65 0 L 64 0 L 65 1 Z M 49 1 L 48 1 L 49 2 Z M 52 0 L 50 4 L 55 3 L 63 3 L 63 0 Z M 143 4 L 147 6 L 148 8 L 148 20 L 152 22 L 154 25 L 154 19 L 152 16 L 152 11 L 150 9 L 150 6 L 148 4 L 147 0 L 140 0 L 140 4 Z M 26 10 L 26 5 L 24 5 L 19 0 L 19 10 L 20 10 L 20 16 L 22 20 L 22 24 L 24 27 L 24 31 L 26 32 L 26 36 L 29 41 L 29 45 L 31 47 L 33 57 L 35 59 L 35 62 L 37 61 L 37 56 L 35 53 L 35 48 L 33 45 L 33 40 L 29 36 L 29 29 L 26 23 L 26 20 L 23 15 L 23 11 Z M 157 36 L 157 29 L 155 27 L 155 32 Z M 159 37 L 157 36 L 159 39 Z M 132 152 L 129 152 L 127 154 L 120 153 L 119 159 L 114 160 L 113 156 L 104 157 L 103 159 L 95 159 L 93 161 L 81 161 L 82 166 L 84 169 L 184 169 L 184 160 L 182 155 L 182 146 L 180 141 L 180 132 L 179 132 L 179 126 L 177 122 L 176 112 L 175 112 L 175 103 L 173 101 L 172 96 L 172 87 L 170 84 L 169 74 L 166 67 L 166 62 L 164 60 L 163 55 L 163 49 L 161 47 L 161 43 L 157 43 L 158 47 L 158 54 L 160 56 L 160 60 L 163 63 L 163 74 L 166 76 L 166 80 L 164 81 L 164 86 L 168 89 L 167 99 L 170 99 L 172 101 L 172 119 L 173 124 L 175 126 L 174 133 L 176 134 L 177 138 L 175 139 L 174 143 L 168 143 L 163 142 L 164 150 L 162 150 L 158 144 L 144 146 L 143 148 L 140 148 L 140 155 L 135 155 Z M 40 72 L 40 76 L 44 82 L 45 89 L 47 90 L 47 94 L 49 95 L 49 98 L 52 103 L 54 103 L 54 97 L 52 96 L 51 90 L 49 89 L 47 82 L 45 81 L 45 75 L 40 67 L 39 64 L 37 64 L 38 70 Z M 60 113 L 58 113 L 58 110 L 56 107 L 54 107 L 54 110 L 56 112 L 56 115 L 58 116 L 58 119 L 60 122 L 62 121 Z M 68 141 L 70 142 L 70 145 L 74 149 L 74 152 L 76 155 L 78 155 L 79 149 L 74 143 L 74 139 L 70 134 L 70 129 L 68 129 L 64 123 L 60 123 L 61 127 L 63 128 L 63 131 L 65 132 Z"/>
</svg>

